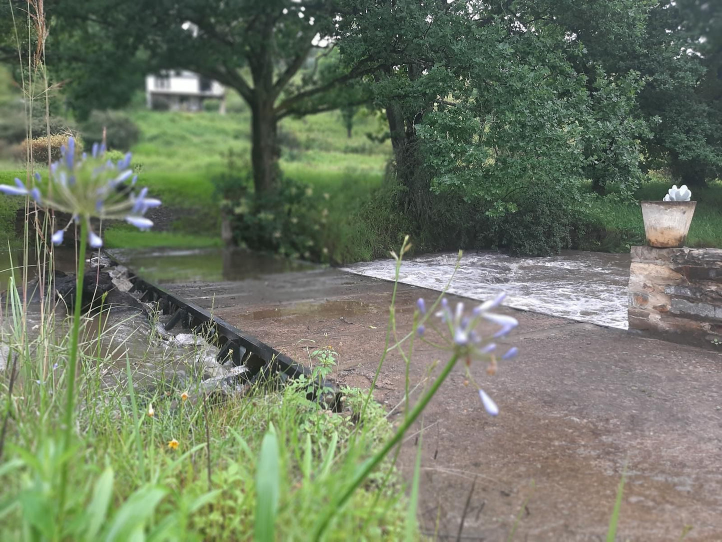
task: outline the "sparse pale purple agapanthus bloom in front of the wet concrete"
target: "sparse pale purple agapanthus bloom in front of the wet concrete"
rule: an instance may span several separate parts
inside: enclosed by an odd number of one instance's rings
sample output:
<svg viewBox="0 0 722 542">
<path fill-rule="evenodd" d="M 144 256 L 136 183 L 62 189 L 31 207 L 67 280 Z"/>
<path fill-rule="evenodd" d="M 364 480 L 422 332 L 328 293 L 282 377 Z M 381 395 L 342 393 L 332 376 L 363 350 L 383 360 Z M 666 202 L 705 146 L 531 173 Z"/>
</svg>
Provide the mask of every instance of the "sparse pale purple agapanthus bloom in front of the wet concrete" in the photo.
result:
<svg viewBox="0 0 722 542">
<path fill-rule="evenodd" d="M 504 298 L 505 294 L 500 294 L 489 301 L 484 301 L 484 303 L 475 306 L 469 313 L 465 311 L 464 303 L 461 301 L 458 302 L 452 310 L 448 300 L 441 298 L 440 310 L 435 313 L 435 316 L 440 318 L 441 323 L 444 324 L 444 330 L 441 332 L 441 335 L 447 341 L 449 348 L 453 350 L 459 359 L 466 361 L 466 378 L 471 380 L 471 382 L 474 382 L 474 377 L 471 376 L 470 371 L 471 361 L 473 359 L 487 361 L 487 374 L 495 374 L 497 369 L 497 345 L 492 342 L 492 340 L 508 335 L 509 332 L 518 325 L 516 318 L 492 312 L 492 309 L 500 306 Z M 426 314 L 426 304 L 423 299 L 417 301 L 417 308 L 419 311 L 418 314 L 424 317 Z M 479 323 L 484 320 L 496 324 L 499 329 L 492 332 L 490 336 L 482 335 L 482 333 L 477 330 L 477 327 Z M 419 335 L 425 334 L 425 322 L 427 322 L 427 320 L 422 318 L 417 326 Z M 518 348 L 513 346 L 501 354 L 500 358 L 508 360 L 516 356 L 518 351 Z M 487 392 L 484 392 L 478 385 L 477 389 L 479 390 L 479 399 L 482 401 L 484 410 L 491 416 L 496 416 L 499 413 L 499 408 L 496 403 L 487 395 Z"/>
</svg>

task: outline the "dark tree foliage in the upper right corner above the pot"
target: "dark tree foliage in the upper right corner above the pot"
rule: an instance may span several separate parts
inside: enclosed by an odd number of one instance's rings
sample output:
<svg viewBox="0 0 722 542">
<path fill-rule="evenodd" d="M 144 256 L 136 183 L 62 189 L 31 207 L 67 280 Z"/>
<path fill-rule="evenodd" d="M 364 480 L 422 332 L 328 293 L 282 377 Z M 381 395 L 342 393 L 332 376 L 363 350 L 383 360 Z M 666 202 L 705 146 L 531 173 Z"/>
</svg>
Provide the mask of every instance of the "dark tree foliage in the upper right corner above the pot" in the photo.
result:
<svg viewBox="0 0 722 542">
<path fill-rule="evenodd" d="M 700 0 L 539 0 L 530 8 L 540 24 L 564 25 L 570 40 L 585 48 L 581 62 L 575 62 L 578 69 L 601 68 L 610 77 L 640 74 L 643 86 L 632 113 L 649 127 L 640 134 L 646 164 L 669 165 L 682 181 L 699 186 L 722 173 L 721 119 L 713 93 L 704 92 L 717 80 L 719 5 Z M 625 25 L 626 31 L 620 31 Z"/>
</svg>

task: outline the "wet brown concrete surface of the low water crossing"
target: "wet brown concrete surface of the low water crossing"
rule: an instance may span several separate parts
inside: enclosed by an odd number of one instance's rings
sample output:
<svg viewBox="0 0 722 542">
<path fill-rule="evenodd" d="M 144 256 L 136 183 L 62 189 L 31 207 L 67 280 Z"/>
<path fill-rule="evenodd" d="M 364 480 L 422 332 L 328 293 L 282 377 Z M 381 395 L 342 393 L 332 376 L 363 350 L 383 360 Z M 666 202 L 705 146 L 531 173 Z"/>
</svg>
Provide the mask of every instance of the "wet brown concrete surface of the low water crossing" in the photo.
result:
<svg viewBox="0 0 722 542">
<path fill-rule="evenodd" d="M 331 345 L 339 382 L 368 387 L 393 285 L 326 269 L 165 287 L 297 361 L 308 359 L 308 340 Z M 436 295 L 399 285 L 399 330 L 411 327 L 419 296 Z M 495 377 L 474 370 L 500 415 L 484 412 L 460 366 L 423 417 L 422 529 L 439 540 L 503 541 L 519 517 L 513 540 L 605 540 L 626 469 L 619 540 L 677 541 L 690 526 L 685 541 L 722 541 L 722 354 L 505 311 L 520 326 L 504 344 L 520 356 Z M 444 356 L 417 341 L 412 385 Z M 375 398 L 391 410 L 403 395 L 404 364 L 392 352 Z M 414 441 L 400 455 L 409 477 Z"/>
</svg>

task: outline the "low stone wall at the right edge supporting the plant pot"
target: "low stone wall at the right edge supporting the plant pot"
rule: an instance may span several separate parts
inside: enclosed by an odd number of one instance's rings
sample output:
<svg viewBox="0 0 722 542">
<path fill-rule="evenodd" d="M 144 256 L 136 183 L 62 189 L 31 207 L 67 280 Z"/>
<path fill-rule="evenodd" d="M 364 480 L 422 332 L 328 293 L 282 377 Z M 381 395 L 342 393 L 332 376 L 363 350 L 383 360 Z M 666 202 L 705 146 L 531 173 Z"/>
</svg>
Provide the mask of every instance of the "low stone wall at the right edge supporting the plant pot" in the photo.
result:
<svg viewBox="0 0 722 542">
<path fill-rule="evenodd" d="M 722 250 L 632 246 L 630 330 L 722 347 Z"/>
</svg>

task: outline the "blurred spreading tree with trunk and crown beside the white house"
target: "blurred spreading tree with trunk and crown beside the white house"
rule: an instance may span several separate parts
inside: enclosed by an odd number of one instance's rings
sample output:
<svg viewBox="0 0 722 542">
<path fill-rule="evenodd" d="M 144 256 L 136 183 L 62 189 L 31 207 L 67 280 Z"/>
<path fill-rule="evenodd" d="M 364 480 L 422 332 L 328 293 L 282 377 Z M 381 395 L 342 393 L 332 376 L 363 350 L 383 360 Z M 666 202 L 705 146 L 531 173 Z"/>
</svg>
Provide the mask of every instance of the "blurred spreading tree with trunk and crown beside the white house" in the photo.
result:
<svg viewBox="0 0 722 542">
<path fill-rule="evenodd" d="M 53 59 L 75 108 L 120 106 L 144 72 L 190 69 L 238 92 L 251 109 L 256 192 L 277 186 L 285 116 L 362 103 L 378 64 L 342 64 L 332 0 L 46 0 Z M 313 51 L 313 55 L 311 55 Z M 308 61 L 312 66 L 303 69 Z M 118 85 L 118 83 L 120 83 Z"/>
</svg>

